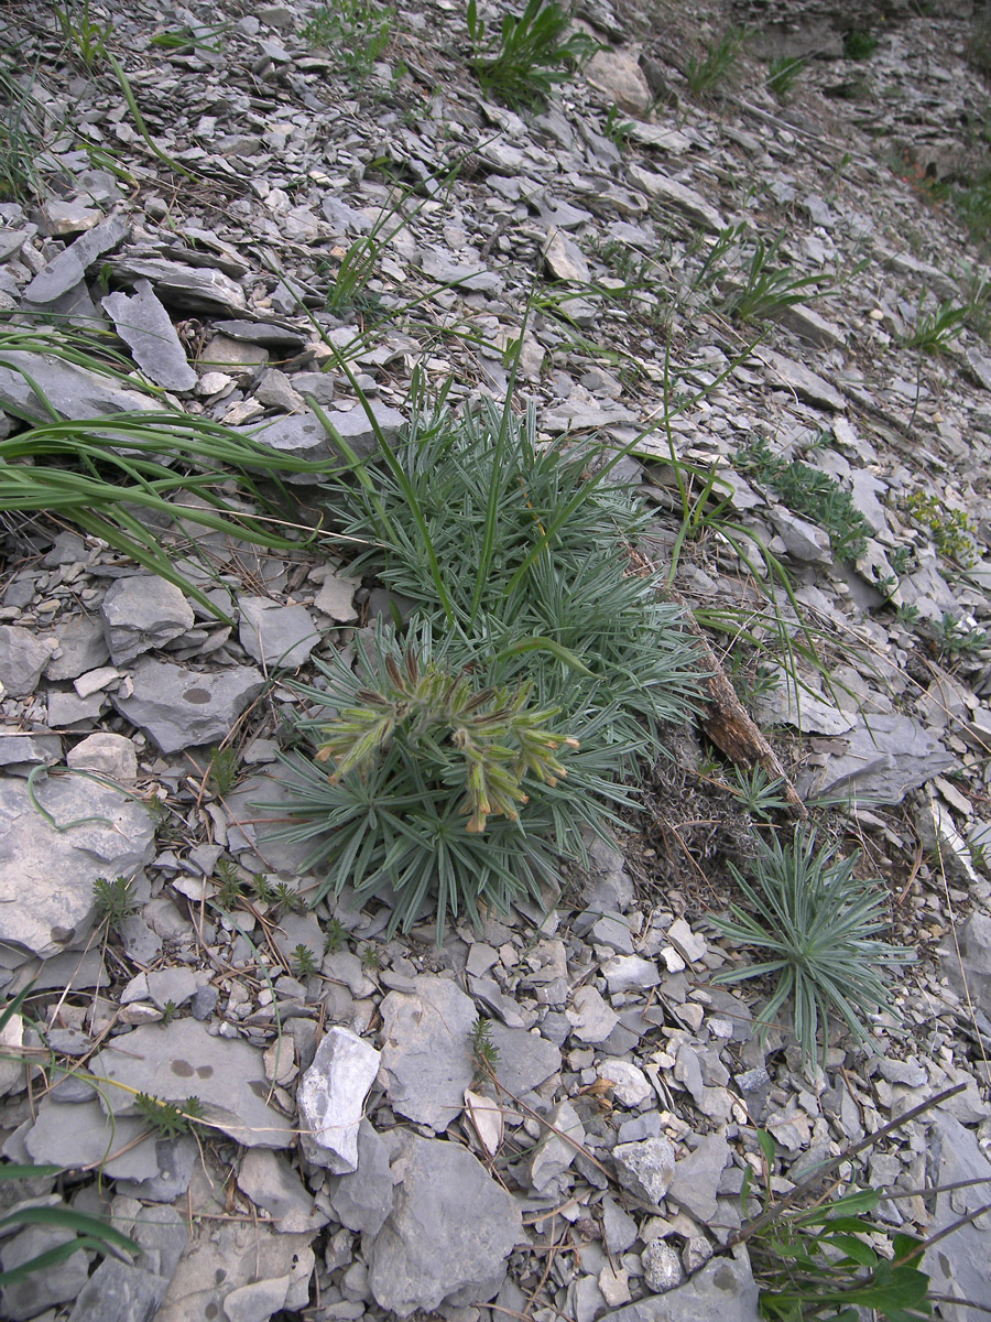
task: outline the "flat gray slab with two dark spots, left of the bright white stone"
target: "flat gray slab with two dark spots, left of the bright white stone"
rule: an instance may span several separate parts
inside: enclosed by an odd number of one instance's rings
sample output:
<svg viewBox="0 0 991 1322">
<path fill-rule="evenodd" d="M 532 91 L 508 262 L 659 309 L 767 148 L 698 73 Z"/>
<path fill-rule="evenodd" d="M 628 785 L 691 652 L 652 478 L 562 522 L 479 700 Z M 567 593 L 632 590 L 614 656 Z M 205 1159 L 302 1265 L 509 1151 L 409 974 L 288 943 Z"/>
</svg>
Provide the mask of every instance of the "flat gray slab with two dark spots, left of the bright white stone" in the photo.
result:
<svg viewBox="0 0 991 1322">
<path fill-rule="evenodd" d="M 213 1038 L 196 1019 L 149 1023 L 114 1038 L 92 1072 L 164 1101 L 198 1097 L 207 1124 L 246 1147 L 288 1147 L 293 1128 L 266 1105 L 271 1088 L 262 1052 L 237 1038 Z M 133 1096 L 108 1087 L 102 1103 L 115 1116 L 133 1112 Z"/>
</svg>

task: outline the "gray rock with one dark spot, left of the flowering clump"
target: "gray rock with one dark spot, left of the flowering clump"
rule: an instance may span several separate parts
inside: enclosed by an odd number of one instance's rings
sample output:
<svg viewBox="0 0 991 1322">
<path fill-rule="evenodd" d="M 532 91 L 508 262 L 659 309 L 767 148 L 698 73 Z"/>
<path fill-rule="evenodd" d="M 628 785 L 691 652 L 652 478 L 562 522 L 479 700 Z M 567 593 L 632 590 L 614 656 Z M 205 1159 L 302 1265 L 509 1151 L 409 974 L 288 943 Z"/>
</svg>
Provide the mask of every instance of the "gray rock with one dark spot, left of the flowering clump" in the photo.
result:
<svg viewBox="0 0 991 1322">
<path fill-rule="evenodd" d="M 163 752 L 223 739 L 264 687 L 254 666 L 205 672 L 148 658 L 137 662 L 132 682 L 132 695 L 115 694 L 114 706 Z"/>
</svg>

